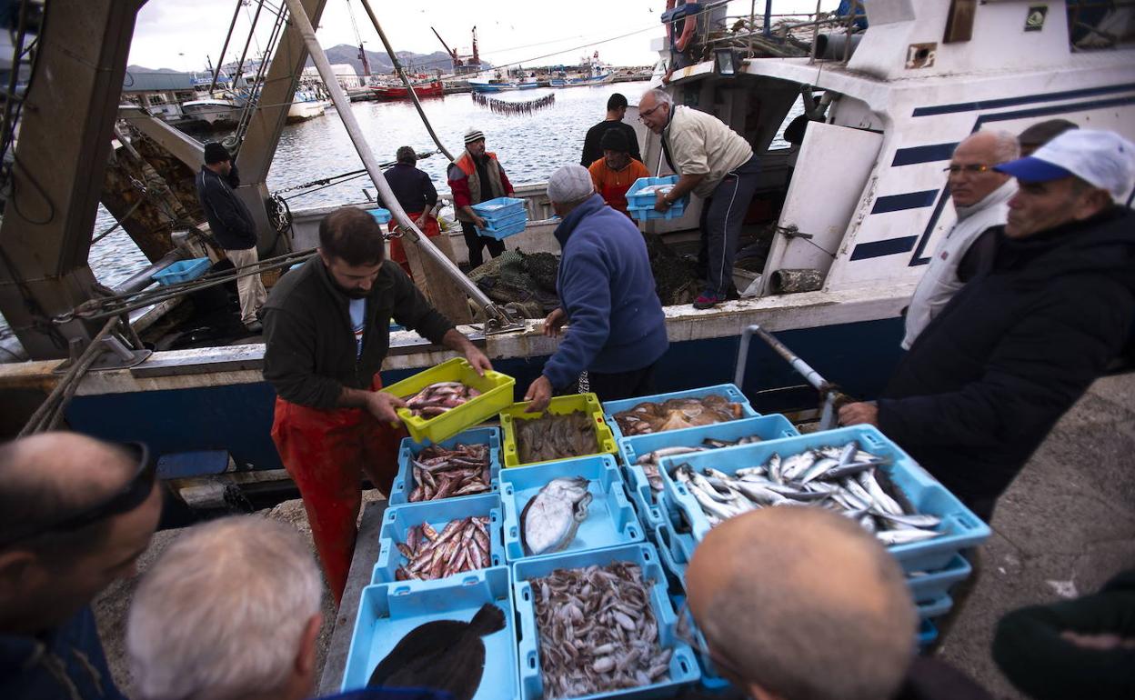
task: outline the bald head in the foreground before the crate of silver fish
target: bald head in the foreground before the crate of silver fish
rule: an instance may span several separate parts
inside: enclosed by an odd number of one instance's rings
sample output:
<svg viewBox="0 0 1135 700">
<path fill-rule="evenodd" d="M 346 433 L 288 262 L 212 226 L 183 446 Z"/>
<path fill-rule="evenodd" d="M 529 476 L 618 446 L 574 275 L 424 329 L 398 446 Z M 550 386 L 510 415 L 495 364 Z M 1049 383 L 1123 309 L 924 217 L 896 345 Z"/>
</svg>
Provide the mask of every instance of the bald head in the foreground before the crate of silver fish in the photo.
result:
<svg viewBox="0 0 1135 700">
<path fill-rule="evenodd" d="M 706 641 L 754 697 L 888 698 L 910 663 L 917 618 L 902 571 L 840 515 L 784 507 L 730 518 L 686 576 Z"/>
</svg>

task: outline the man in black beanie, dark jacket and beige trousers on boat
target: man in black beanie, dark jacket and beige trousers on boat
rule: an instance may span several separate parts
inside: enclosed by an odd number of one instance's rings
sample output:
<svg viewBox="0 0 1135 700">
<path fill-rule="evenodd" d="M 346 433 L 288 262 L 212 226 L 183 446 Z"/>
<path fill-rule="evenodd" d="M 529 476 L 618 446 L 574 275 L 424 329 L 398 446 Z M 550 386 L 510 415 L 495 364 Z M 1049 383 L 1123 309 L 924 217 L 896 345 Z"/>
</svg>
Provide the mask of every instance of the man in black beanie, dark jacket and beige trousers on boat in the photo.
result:
<svg viewBox="0 0 1135 700">
<path fill-rule="evenodd" d="M 235 268 L 255 264 L 257 227 L 244 202 L 237 199 L 235 188 L 241 179 L 233 165 L 233 157 L 219 143 L 205 144 L 205 165 L 197 172 L 197 199 L 209 220 L 213 238 L 225 250 Z M 246 275 L 236 280 L 236 292 L 241 297 L 241 322 L 249 332 L 263 330 L 257 312 L 264 305 L 268 293 L 260 275 Z"/>
</svg>

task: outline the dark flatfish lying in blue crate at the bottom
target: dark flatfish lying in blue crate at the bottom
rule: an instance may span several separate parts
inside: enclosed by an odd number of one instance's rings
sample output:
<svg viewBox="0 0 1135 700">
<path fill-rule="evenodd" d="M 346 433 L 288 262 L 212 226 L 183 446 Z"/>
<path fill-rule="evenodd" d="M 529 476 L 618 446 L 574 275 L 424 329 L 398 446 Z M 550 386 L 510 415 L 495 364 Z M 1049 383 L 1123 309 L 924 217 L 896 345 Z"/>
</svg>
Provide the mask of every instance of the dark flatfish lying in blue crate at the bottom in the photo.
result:
<svg viewBox="0 0 1135 700">
<path fill-rule="evenodd" d="M 505 627 L 504 612 L 486 602 L 469 622 L 438 619 L 398 640 L 370 674 L 371 688 L 428 688 L 472 700 L 485 669 L 482 636 Z"/>
</svg>

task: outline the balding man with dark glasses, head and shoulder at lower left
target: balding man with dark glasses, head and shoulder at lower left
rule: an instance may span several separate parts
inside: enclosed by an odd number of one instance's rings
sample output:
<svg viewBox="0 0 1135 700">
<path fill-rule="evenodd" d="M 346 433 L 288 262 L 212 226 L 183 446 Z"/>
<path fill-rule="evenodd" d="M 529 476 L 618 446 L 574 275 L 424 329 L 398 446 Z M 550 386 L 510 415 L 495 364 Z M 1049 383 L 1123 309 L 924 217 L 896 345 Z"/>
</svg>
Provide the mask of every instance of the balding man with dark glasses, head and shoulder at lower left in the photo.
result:
<svg viewBox="0 0 1135 700">
<path fill-rule="evenodd" d="M 90 605 L 150 546 L 154 470 L 144 446 L 68 432 L 0 446 L 0 698 L 123 698 Z"/>
</svg>

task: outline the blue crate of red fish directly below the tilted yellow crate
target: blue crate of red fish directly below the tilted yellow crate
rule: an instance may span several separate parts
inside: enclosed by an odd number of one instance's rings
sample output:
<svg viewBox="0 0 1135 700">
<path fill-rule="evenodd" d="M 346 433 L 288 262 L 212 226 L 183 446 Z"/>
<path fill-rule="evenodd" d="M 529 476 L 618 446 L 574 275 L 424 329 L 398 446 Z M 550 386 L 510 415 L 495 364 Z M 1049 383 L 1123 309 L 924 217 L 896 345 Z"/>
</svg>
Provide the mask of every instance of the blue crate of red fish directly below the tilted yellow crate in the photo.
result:
<svg viewBox="0 0 1135 700">
<path fill-rule="evenodd" d="M 398 449 L 398 475 L 389 504 L 462 498 L 496 491 L 501 474 L 501 430 L 476 428 L 437 445 L 410 438 Z"/>
</svg>

